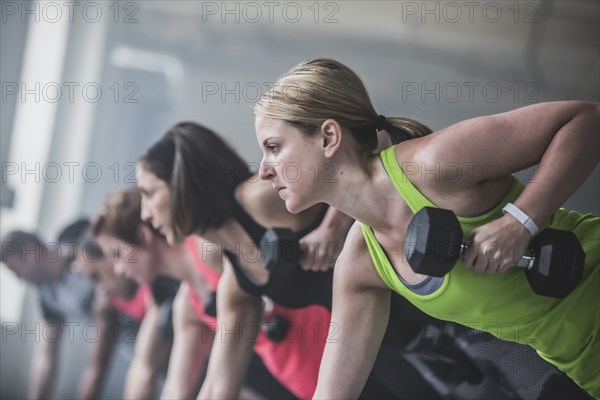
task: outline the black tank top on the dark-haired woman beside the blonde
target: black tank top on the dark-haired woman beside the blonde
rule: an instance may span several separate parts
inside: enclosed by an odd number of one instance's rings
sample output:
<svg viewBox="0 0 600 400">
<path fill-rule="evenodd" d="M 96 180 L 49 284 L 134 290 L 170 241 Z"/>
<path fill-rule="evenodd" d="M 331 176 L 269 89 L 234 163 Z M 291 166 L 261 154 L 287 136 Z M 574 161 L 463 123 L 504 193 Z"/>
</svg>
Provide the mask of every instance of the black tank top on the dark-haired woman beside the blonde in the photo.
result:
<svg viewBox="0 0 600 400">
<path fill-rule="evenodd" d="M 325 216 L 327 205 L 323 205 L 321 212 L 306 228 L 296 232 L 298 237 L 303 237 L 314 230 Z M 248 213 L 235 202 L 234 218 L 248 233 L 254 244 L 259 247 L 260 240 L 266 228 L 259 225 Z M 246 275 L 240 266 L 237 256 L 232 252 L 225 252 L 231 264 L 238 284 L 247 293 L 269 297 L 273 302 L 287 308 L 303 308 L 310 305 L 322 305 L 331 310 L 331 295 L 333 290 L 333 269 L 325 272 L 305 271 L 299 266 L 289 274 L 269 274 L 265 284 L 259 284 Z"/>
</svg>

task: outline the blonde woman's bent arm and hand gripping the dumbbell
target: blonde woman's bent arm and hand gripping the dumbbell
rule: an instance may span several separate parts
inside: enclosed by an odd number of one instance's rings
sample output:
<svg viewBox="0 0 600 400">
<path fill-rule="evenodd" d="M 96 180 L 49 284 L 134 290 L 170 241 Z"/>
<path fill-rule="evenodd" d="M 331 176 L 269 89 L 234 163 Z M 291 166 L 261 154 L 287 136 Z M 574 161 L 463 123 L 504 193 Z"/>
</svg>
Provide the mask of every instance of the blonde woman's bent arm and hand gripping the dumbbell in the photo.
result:
<svg viewBox="0 0 600 400">
<path fill-rule="evenodd" d="M 446 134 L 440 132 L 431 142 L 434 151 L 430 154 L 434 154 L 442 165 L 446 162 L 467 166 L 459 182 L 464 187 L 489 182 L 486 171 L 492 164 L 502 175 L 539 164 L 535 175 L 514 202 L 538 226 L 575 193 L 600 159 L 597 103 L 536 104 L 463 121 L 444 130 Z M 452 183 L 446 185 L 452 190 Z M 479 272 L 495 273 L 514 265 L 525 252 L 531 234 L 506 214 L 475 229 L 471 239 L 478 244 L 479 250 L 466 252 L 465 264 Z M 494 250 L 493 254 L 483 254 L 488 243 L 494 244 L 487 247 Z"/>
</svg>

